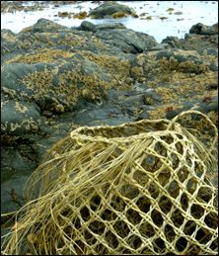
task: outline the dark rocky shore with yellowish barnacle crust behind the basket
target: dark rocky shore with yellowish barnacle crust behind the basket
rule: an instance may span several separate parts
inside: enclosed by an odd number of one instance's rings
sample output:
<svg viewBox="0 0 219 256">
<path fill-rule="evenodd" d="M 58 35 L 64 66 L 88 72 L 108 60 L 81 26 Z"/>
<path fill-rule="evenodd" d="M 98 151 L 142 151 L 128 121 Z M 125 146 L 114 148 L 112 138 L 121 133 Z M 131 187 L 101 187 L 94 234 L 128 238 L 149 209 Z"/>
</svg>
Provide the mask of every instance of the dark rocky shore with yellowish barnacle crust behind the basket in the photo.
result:
<svg viewBox="0 0 219 256">
<path fill-rule="evenodd" d="M 2 213 L 24 205 L 43 153 L 74 128 L 190 109 L 218 125 L 217 28 L 196 24 L 162 43 L 120 23 L 69 29 L 39 19 L 19 34 L 1 30 Z"/>
</svg>

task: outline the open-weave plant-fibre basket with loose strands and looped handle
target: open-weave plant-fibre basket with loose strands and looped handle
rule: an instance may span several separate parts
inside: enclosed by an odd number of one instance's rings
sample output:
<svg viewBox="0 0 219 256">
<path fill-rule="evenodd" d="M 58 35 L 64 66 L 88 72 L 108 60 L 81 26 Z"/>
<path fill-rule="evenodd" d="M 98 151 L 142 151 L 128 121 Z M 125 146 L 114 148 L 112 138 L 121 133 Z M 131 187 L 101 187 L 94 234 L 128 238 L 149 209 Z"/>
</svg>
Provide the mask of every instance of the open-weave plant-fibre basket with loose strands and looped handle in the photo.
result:
<svg viewBox="0 0 219 256">
<path fill-rule="evenodd" d="M 191 114 L 213 128 L 211 148 L 180 123 Z M 216 141 L 197 111 L 73 130 L 29 180 L 2 253 L 216 255 Z"/>
</svg>

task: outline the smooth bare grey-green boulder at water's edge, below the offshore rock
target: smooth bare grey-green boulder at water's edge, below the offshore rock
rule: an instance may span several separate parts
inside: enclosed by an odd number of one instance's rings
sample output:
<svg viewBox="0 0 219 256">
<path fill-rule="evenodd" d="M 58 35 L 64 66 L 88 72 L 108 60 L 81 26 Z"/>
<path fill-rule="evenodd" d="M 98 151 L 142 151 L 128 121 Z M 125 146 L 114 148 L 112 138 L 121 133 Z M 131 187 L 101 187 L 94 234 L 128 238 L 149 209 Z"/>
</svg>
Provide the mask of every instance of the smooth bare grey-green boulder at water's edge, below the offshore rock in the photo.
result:
<svg viewBox="0 0 219 256">
<path fill-rule="evenodd" d="M 98 31 L 95 36 L 130 53 L 143 52 L 157 44 L 153 37 L 128 29 Z"/>
</svg>

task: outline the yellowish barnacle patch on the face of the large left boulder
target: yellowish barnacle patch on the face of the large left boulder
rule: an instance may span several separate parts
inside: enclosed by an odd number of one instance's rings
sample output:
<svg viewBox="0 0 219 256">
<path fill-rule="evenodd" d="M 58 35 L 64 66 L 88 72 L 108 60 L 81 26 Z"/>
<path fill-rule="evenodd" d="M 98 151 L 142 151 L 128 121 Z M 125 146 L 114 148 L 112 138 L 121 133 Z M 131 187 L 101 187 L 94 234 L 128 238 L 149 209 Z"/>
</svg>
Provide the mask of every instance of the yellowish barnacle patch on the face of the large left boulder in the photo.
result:
<svg viewBox="0 0 219 256">
<path fill-rule="evenodd" d="M 45 96 L 47 93 L 52 93 L 54 96 L 58 95 L 65 99 L 67 107 L 72 107 L 77 103 L 79 96 L 85 96 L 82 94 L 82 90 L 86 89 L 86 96 L 90 100 L 99 100 L 102 98 L 102 94 L 105 92 L 106 88 L 109 88 L 109 84 L 101 80 L 95 74 L 82 75 L 80 69 L 74 69 L 69 71 L 63 71 L 57 75 L 58 69 L 44 71 L 36 71 L 30 75 L 25 76 L 22 82 L 27 86 L 27 88 L 35 91 L 36 96 Z M 52 85 L 52 79 L 56 75 L 58 80 L 58 86 Z M 82 88 L 78 88 L 78 85 L 82 85 Z M 100 93 L 100 87 L 103 93 Z M 54 106 L 54 108 L 57 108 Z M 59 111 L 62 112 L 62 111 Z"/>
</svg>

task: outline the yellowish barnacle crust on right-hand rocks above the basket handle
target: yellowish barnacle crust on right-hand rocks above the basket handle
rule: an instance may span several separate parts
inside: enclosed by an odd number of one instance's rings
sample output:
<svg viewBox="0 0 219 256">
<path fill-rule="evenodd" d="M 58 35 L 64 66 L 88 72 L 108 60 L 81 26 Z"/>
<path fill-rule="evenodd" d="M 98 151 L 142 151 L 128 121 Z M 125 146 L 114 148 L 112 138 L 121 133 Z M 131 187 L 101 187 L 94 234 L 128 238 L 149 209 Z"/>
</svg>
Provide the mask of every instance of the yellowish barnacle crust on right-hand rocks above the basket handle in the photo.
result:
<svg viewBox="0 0 219 256">
<path fill-rule="evenodd" d="M 217 90 L 207 89 L 209 84 L 217 83 L 217 73 L 208 68 L 210 62 L 216 61 L 216 56 L 201 55 L 198 59 L 195 57 L 199 55 L 193 50 L 178 52 L 187 59 L 193 56 L 194 61 L 179 62 L 174 55 L 169 60 L 166 57 L 157 60 L 156 52 L 140 53 L 137 56 L 136 66 L 130 69 L 132 77 L 137 81 L 145 79 L 145 84 L 162 96 L 163 104 L 148 111 L 150 119 L 162 119 L 169 111 L 182 109 L 186 106 L 186 99 L 193 97 L 192 95 L 195 95 L 195 100 L 200 101 L 204 97 L 217 96 Z M 195 63 L 195 59 L 203 63 Z"/>
</svg>

